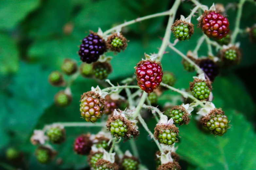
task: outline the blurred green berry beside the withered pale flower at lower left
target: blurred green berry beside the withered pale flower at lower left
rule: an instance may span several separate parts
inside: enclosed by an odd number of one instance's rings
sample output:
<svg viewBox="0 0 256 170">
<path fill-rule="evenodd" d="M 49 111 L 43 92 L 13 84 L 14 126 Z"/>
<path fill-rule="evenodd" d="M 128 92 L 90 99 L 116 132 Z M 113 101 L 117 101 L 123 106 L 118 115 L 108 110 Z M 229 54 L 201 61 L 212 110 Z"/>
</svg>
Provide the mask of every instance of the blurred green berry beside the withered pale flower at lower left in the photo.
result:
<svg viewBox="0 0 256 170">
<path fill-rule="evenodd" d="M 60 144 L 65 141 L 65 130 L 60 127 L 51 127 L 47 131 L 49 140 L 54 144 Z"/>
</svg>

